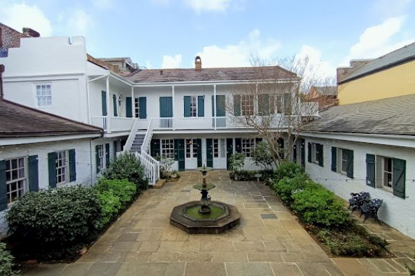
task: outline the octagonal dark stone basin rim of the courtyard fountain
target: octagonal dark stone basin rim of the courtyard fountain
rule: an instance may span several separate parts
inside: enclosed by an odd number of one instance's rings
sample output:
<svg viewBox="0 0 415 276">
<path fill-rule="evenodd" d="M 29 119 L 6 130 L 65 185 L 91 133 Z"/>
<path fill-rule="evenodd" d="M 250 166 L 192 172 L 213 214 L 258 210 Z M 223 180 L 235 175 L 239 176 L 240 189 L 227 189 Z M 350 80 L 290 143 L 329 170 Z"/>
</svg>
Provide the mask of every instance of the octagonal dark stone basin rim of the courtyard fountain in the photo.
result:
<svg viewBox="0 0 415 276">
<path fill-rule="evenodd" d="M 219 234 L 239 224 L 241 216 L 235 206 L 212 201 L 212 206 L 223 209 L 223 212 L 219 210 L 219 215 L 212 219 L 188 215 L 187 210 L 195 206 L 200 206 L 200 201 L 190 201 L 174 207 L 170 215 L 170 224 L 189 234 Z"/>
</svg>

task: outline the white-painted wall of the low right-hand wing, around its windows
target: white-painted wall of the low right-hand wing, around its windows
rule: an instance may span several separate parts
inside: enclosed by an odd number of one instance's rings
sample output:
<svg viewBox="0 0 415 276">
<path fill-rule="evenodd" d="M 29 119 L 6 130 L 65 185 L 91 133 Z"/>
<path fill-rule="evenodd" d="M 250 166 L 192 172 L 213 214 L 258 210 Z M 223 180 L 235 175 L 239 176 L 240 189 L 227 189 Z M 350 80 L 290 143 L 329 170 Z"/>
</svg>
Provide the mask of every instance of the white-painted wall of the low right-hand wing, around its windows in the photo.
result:
<svg viewBox="0 0 415 276">
<path fill-rule="evenodd" d="M 379 209 L 379 219 L 385 221 L 390 226 L 400 230 L 402 233 L 415 237 L 415 150 L 413 148 L 403 148 L 394 146 L 382 146 L 377 144 L 356 143 L 342 141 L 338 139 L 306 139 L 308 142 L 323 144 L 324 167 L 306 161 L 306 172 L 312 179 L 329 188 L 343 199 L 349 199 L 350 193 L 367 191 L 371 198 L 383 199 L 383 204 Z M 353 150 L 353 177 L 349 179 L 339 172 L 331 171 L 331 146 L 347 148 Z M 384 188 L 373 188 L 366 184 L 366 154 L 380 155 L 406 160 L 405 195 L 402 199 L 396 197 L 389 190 Z M 306 149 L 306 160 L 308 150 Z M 326 180 L 327 179 L 327 180 Z"/>
</svg>

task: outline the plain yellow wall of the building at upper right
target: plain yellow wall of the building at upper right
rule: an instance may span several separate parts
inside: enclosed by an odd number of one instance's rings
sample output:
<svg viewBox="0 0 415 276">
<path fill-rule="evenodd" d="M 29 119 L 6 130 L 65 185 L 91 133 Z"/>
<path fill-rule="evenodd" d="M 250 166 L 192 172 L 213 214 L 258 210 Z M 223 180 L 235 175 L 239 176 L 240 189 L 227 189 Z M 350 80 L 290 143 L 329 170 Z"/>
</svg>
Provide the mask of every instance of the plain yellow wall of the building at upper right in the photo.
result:
<svg viewBox="0 0 415 276">
<path fill-rule="evenodd" d="M 339 105 L 415 94 L 415 61 L 338 86 Z"/>
</svg>

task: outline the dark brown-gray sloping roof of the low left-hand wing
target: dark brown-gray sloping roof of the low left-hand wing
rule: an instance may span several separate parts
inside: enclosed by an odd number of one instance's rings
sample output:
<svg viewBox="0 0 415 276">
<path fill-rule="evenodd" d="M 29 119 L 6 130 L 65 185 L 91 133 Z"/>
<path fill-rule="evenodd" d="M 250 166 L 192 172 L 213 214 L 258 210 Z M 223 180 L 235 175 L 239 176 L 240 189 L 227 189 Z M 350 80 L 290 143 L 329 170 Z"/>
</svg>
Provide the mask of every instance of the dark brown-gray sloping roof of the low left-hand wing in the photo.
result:
<svg viewBox="0 0 415 276">
<path fill-rule="evenodd" d="M 102 129 L 46 113 L 19 103 L 0 100 L 0 138 L 80 135 Z"/>
</svg>

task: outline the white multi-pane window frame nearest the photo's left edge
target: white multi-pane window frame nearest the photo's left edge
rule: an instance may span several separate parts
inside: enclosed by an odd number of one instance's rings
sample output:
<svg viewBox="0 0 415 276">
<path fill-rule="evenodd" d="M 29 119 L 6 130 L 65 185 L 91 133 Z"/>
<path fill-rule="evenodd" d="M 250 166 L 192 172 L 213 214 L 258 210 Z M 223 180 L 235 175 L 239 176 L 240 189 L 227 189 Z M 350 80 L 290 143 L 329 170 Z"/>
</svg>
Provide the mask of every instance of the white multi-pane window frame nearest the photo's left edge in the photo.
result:
<svg viewBox="0 0 415 276">
<path fill-rule="evenodd" d="M 12 163 L 13 160 L 16 160 L 17 167 L 13 167 Z M 20 164 L 20 160 L 23 163 L 23 166 Z M 26 157 L 16 157 L 12 159 L 6 159 L 6 186 L 8 191 L 6 191 L 7 199 L 8 199 L 8 206 L 11 206 L 21 195 L 24 195 L 28 191 L 28 163 Z M 9 164 L 9 168 L 8 167 Z M 21 172 L 23 169 L 23 173 Z M 13 179 L 13 171 L 16 171 L 17 178 Z M 10 176 L 10 177 L 8 177 Z M 19 182 L 21 182 L 22 187 L 19 187 Z M 16 188 L 12 190 L 12 185 L 15 184 Z M 7 189 L 6 188 L 6 189 Z M 23 190 L 21 195 L 19 195 L 19 190 Z M 11 196 L 13 192 L 17 192 L 17 197 L 12 200 Z"/>
</svg>

